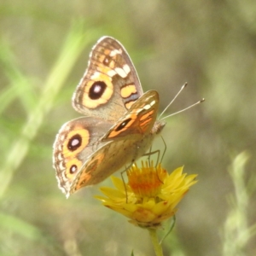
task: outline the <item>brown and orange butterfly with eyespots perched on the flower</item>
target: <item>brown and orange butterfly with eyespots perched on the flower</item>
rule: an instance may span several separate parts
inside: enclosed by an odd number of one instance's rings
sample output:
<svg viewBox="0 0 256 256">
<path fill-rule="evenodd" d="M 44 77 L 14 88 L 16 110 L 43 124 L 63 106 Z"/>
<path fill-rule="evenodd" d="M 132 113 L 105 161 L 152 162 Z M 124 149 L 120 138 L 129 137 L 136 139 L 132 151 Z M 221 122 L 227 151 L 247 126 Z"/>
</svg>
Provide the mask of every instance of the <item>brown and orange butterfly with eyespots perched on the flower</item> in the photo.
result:
<svg viewBox="0 0 256 256">
<path fill-rule="evenodd" d="M 166 125 L 156 119 L 159 102 L 156 90 L 143 93 L 124 46 L 100 38 L 73 94 L 73 108 L 84 116 L 62 125 L 55 137 L 53 166 L 61 191 L 68 197 L 143 156 Z"/>
</svg>

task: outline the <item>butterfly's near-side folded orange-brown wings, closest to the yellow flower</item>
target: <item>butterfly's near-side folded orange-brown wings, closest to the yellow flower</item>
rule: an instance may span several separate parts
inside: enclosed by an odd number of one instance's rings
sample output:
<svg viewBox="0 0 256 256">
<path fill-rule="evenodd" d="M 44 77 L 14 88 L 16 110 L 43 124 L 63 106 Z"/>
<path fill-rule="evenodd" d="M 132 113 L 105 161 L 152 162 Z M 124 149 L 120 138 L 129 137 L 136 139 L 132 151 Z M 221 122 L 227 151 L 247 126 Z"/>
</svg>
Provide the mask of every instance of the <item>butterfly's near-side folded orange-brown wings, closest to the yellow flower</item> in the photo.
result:
<svg viewBox="0 0 256 256">
<path fill-rule="evenodd" d="M 155 134 L 151 131 L 158 107 L 159 96 L 155 90 L 139 98 L 102 137 L 101 141 L 108 143 L 90 155 L 74 178 L 67 196 L 85 186 L 102 182 L 113 172 L 131 165 L 143 155 L 154 139 Z"/>
</svg>

